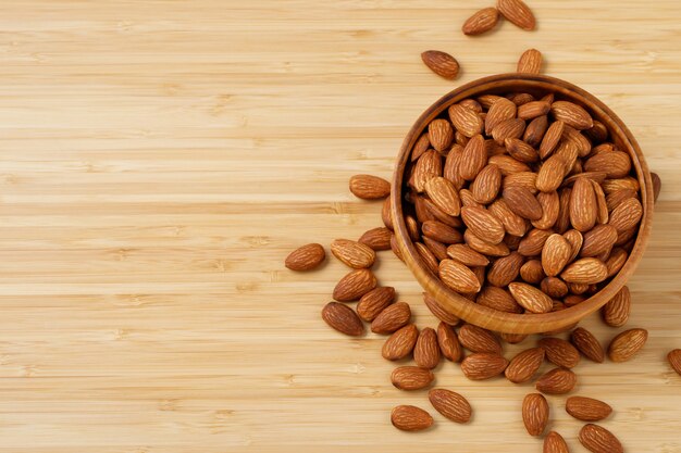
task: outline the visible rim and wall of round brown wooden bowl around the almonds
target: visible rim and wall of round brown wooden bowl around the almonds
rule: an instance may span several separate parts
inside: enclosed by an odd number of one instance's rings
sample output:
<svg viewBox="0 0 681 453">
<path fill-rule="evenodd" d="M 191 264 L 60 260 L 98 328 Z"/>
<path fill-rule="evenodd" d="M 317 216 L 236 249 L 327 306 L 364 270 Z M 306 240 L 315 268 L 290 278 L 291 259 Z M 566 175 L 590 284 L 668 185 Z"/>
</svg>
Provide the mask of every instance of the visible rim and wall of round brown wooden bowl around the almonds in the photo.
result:
<svg viewBox="0 0 681 453">
<path fill-rule="evenodd" d="M 498 312 L 459 295 L 445 286 L 421 262 L 419 254 L 409 238 L 403 216 L 404 173 L 410 159 L 413 144 L 425 130 L 428 124 L 445 112 L 451 104 L 466 98 L 475 98 L 481 95 L 498 95 L 508 92 L 529 92 L 544 96 L 555 92 L 562 99 L 584 106 L 594 117 L 606 125 L 611 140 L 621 149 L 629 152 L 639 184 L 641 185 L 641 200 L 643 217 L 639 234 L 629 259 L 621 270 L 596 294 L 572 307 L 546 314 L 512 314 Z M 407 134 L 397 159 L 397 167 L 392 181 L 391 211 L 395 228 L 397 244 L 405 263 L 411 269 L 421 286 L 442 305 L 444 310 L 459 318 L 491 330 L 508 334 L 537 334 L 569 328 L 584 316 L 595 312 L 608 302 L 629 280 L 641 261 L 643 251 L 651 234 L 653 221 L 653 183 L 651 172 L 643 158 L 639 143 L 622 121 L 603 102 L 583 89 L 558 78 L 544 75 L 529 74 L 499 74 L 480 78 L 463 85 L 441 98 L 431 105 Z"/>
</svg>

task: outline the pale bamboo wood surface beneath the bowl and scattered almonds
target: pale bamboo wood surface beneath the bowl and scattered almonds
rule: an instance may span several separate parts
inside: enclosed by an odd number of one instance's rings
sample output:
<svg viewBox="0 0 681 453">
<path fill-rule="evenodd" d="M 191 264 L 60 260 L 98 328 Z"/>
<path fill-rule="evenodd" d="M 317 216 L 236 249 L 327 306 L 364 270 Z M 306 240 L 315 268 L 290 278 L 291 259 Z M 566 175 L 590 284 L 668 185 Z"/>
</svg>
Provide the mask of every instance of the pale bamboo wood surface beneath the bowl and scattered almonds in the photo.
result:
<svg viewBox="0 0 681 453">
<path fill-rule="evenodd" d="M 621 115 L 664 181 L 630 286 L 648 344 L 628 364 L 583 361 L 577 393 L 615 407 L 604 426 L 627 451 L 681 452 L 665 362 L 681 348 L 681 3 L 532 0 L 535 33 L 463 37 L 491 3 L 3 0 L 0 451 L 541 451 L 519 416 L 531 386 L 449 363 L 437 385 L 471 401 L 472 423 L 396 431 L 394 405 L 433 411 L 389 385 L 382 338 L 321 322 L 344 267 L 283 267 L 297 246 L 379 226 L 349 176 L 389 177 L 431 102 L 536 47 Z M 459 59 L 459 80 L 429 73 L 430 48 Z M 434 325 L 389 252 L 376 273 Z M 583 452 L 564 401 L 552 426 Z"/>
</svg>

